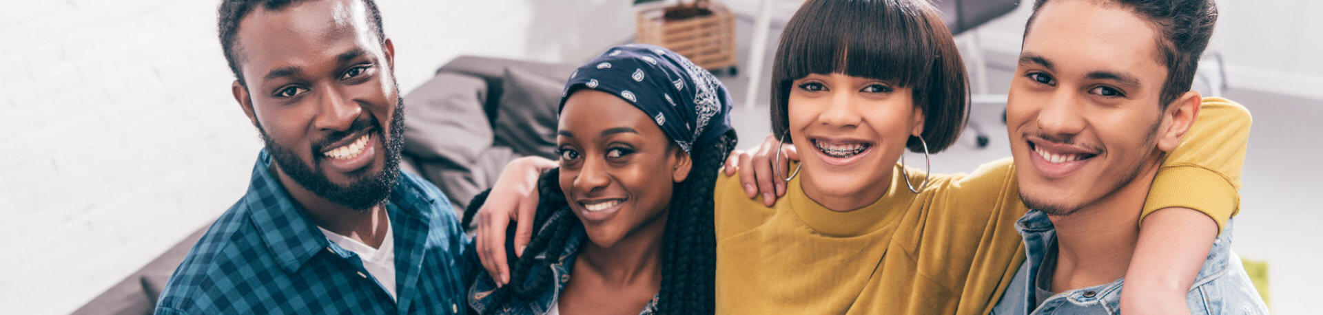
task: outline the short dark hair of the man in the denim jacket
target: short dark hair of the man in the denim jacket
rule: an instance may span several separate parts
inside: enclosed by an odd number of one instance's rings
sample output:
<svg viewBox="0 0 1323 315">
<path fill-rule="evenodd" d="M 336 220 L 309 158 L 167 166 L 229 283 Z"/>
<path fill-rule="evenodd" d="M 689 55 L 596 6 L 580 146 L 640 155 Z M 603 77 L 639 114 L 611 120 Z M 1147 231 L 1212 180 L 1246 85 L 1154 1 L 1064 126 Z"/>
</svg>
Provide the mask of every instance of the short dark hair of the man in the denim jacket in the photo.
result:
<svg viewBox="0 0 1323 315">
<path fill-rule="evenodd" d="M 1158 30 L 1158 55 L 1167 66 L 1167 80 L 1158 98 L 1159 108 L 1166 109 L 1176 98 L 1188 92 L 1195 83 L 1199 58 L 1208 47 L 1217 25 L 1217 4 L 1213 0 L 1094 0 L 1130 8 L 1135 14 L 1148 20 Z M 1048 0 L 1033 1 L 1033 14 L 1024 25 L 1024 37 L 1029 36 L 1033 18 Z"/>
</svg>

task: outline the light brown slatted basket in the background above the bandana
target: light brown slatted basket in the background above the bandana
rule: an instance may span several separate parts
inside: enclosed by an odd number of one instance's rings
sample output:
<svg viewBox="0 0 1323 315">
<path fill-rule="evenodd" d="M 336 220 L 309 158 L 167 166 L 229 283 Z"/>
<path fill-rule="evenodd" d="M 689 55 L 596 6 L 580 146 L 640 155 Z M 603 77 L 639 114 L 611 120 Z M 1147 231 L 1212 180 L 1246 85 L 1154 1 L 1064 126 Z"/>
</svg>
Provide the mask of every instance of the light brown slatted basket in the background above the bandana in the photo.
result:
<svg viewBox="0 0 1323 315">
<path fill-rule="evenodd" d="M 736 72 L 736 18 L 726 7 L 709 3 L 712 14 L 668 21 L 663 8 L 639 11 L 635 41 L 676 51 L 706 70 Z"/>
</svg>

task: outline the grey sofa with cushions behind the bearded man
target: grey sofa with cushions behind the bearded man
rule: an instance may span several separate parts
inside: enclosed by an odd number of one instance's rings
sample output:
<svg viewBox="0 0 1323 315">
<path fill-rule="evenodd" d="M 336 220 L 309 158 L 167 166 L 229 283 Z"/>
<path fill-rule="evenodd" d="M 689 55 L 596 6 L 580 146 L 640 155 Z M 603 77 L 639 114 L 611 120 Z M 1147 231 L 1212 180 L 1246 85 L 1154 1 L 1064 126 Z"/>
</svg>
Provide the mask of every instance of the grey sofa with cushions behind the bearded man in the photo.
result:
<svg viewBox="0 0 1323 315">
<path fill-rule="evenodd" d="M 431 80 L 404 96 L 407 130 L 401 169 L 441 187 L 459 215 L 475 194 L 496 181 L 509 159 L 552 156 L 556 105 L 573 70 L 572 65 L 468 55 L 446 63 Z M 209 227 L 175 244 L 74 314 L 151 314 L 169 275 Z"/>
</svg>

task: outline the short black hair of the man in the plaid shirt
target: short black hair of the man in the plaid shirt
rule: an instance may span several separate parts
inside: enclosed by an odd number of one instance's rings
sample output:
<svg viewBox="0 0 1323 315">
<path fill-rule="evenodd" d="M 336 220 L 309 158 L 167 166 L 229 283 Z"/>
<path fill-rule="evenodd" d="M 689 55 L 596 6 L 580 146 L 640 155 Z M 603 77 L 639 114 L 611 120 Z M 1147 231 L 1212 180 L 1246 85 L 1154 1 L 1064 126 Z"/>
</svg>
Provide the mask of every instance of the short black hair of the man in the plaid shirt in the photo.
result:
<svg viewBox="0 0 1323 315">
<path fill-rule="evenodd" d="M 216 24 L 221 36 L 221 50 L 225 53 L 225 62 L 229 63 L 230 71 L 234 72 L 234 79 L 239 84 L 247 86 L 243 82 L 243 72 L 239 72 L 238 61 L 238 38 L 239 21 L 247 16 L 253 9 L 262 8 L 267 11 L 279 11 L 290 4 L 303 3 L 310 0 L 222 0 L 220 8 L 217 8 Z M 363 1 L 364 7 L 368 8 L 368 25 L 373 29 L 377 36 L 377 42 L 385 45 L 385 32 L 381 30 L 381 11 L 377 9 L 377 3 L 373 0 L 359 0 Z"/>
</svg>

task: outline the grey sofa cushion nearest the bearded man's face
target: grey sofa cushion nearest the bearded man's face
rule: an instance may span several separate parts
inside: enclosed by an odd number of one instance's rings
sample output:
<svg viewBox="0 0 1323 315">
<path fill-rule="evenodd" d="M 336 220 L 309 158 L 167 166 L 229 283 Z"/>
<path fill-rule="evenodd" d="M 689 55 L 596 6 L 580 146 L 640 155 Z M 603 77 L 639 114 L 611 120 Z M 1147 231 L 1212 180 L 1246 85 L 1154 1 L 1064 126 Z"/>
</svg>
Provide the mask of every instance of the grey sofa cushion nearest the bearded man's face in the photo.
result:
<svg viewBox="0 0 1323 315">
<path fill-rule="evenodd" d="M 492 145 L 483 111 L 487 82 L 442 72 L 405 95 L 405 152 L 418 159 L 443 159 L 460 169 Z"/>
</svg>

